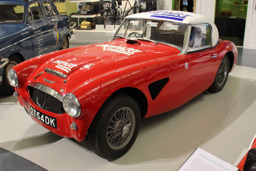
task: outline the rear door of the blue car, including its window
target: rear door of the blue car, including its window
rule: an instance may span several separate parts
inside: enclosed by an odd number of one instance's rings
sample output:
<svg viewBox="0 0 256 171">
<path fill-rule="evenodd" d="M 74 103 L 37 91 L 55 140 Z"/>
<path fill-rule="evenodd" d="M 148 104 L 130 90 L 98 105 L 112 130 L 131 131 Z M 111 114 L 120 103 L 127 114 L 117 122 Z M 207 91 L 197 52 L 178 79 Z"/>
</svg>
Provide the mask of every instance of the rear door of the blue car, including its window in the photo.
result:
<svg viewBox="0 0 256 171">
<path fill-rule="evenodd" d="M 49 47 L 49 51 L 55 51 L 60 49 L 60 43 L 61 41 L 61 34 L 58 31 L 58 15 L 53 7 L 53 4 L 51 1 L 42 1 L 43 4 L 43 9 L 44 9 L 44 15 L 46 17 L 47 24 L 49 25 L 49 30 L 48 36 L 51 41 L 47 42 L 47 45 Z"/>
</svg>

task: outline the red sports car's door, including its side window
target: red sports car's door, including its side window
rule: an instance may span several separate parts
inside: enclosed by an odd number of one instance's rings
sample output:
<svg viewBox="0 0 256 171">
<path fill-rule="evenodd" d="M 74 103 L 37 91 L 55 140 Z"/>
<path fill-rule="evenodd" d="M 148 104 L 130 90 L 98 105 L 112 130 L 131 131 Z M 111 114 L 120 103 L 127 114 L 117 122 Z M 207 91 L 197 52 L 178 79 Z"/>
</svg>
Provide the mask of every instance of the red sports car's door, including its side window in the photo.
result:
<svg viewBox="0 0 256 171">
<path fill-rule="evenodd" d="M 191 59 L 188 82 L 180 105 L 204 92 L 210 86 L 217 62 L 217 52 L 212 49 L 212 32 L 208 24 L 193 25 L 187 55 Z"/>
</svg>

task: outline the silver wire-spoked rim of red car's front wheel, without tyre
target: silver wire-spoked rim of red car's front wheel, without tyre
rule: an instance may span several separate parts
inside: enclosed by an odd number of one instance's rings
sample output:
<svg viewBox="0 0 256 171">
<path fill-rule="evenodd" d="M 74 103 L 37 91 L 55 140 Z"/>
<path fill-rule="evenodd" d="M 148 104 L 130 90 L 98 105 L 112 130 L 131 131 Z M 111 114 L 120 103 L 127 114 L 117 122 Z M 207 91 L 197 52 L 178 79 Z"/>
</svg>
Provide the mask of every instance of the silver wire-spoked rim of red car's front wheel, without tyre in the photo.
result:
<svg viewBox="0 0 256 171">
<path fill-rule="evenodd" d="M 108 123 L 107 142 L 111 149 L 123 148 L 134 132 L 135 114 L 129 107 L 118 109 Z"/>
</svg>

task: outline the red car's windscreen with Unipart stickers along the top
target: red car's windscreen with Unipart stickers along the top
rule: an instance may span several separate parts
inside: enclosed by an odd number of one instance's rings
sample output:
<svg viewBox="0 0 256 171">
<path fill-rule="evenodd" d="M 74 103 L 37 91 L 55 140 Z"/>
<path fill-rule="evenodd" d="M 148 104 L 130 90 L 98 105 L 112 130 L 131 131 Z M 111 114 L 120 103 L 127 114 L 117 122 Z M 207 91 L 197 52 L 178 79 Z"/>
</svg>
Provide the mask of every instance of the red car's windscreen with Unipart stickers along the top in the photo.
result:
<svg viewBox="0 0 256 171">
<path fill-rule="evenodd" d="M 182 50 L 187 26 L 187 24 L 170 21 L 126 19 L 114 39 L 118 36 L 134 39 L 143 38 L 156 43 L 170 44 Z"/>
</svg>

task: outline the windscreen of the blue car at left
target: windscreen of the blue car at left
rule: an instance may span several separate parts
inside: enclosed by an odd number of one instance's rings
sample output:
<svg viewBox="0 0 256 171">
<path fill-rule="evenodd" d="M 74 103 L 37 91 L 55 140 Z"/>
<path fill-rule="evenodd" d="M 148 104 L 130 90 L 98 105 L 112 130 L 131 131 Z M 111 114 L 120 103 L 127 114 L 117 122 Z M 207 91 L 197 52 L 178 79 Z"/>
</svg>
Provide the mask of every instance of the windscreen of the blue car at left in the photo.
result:
<svg viewBox="0 0 256 171">
<path fill-rule="evenodd" d="M 0 4 L 0 23 L 20 23 L 24 19 L 24 7 L 17 4 Z"/>
</svg>

